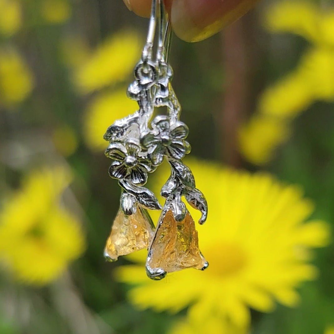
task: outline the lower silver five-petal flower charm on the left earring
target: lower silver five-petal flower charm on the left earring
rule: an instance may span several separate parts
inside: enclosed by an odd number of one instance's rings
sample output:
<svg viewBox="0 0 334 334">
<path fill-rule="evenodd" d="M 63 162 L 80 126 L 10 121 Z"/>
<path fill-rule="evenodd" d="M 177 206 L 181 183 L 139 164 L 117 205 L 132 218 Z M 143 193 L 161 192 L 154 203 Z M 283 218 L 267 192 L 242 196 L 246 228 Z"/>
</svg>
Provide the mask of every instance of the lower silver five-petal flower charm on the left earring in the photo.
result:
<svg viewBox="0 0 334 334">
<path fill-rule="evenodd" d="M 115 179 L 130 179 L 133 184 L 144 185 L 147 172 L 155 170 L 145 156 L 139 155 L 141 149 L 135 141 L 127 141 L 124 145 L 113 142 L 106 150 L 106 156 L 115 161 L 109 168 L 109 175 Z"/>
</svg>

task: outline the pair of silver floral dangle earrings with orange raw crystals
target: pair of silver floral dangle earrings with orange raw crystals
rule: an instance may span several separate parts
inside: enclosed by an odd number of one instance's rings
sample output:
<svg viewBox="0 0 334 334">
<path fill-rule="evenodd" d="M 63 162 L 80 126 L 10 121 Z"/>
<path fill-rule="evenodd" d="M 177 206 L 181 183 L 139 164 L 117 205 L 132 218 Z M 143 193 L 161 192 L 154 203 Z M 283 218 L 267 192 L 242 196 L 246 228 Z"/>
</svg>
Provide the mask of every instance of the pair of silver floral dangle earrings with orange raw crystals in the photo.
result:
<svg viewBox="0 0 334 334">
<path fill-rule="evenodd" d="M 159 38 L 156 57 L 153 44 L 157 21 Z M 139 110 L 112 124 L 104 135 L 110 145 L 106 156 L 113 159 L 109 174 L 122 188 L 120 209 L 108 237 L 104 256 L 119 256 L 148 248 L 146 272 L 160 280 L 167 273 L 186 268 L 204 270 L 208 263 L 198 247 L 195 223 L 181 197 L 201 211 L 200 224 L 207 217 L 204 195 L 195 187 L 194 176 L 182 158 L 190 153 L 188 128 L 180 119 L 181 106 L 171 86 L 168 64 L 171 28 L 163 0 L 153 0 L 147 41 L 134 69 L 135 80 L 127 96 L 138 102 Z M 154 109 L 167 107 L 167 115 L 151 120 Z M 166 158 L 171 175 L 161 189 L 162 207 L 152 191 L 143 187 Z M 161 210 L 155 227 L 147 211 Z"/>
</svg>

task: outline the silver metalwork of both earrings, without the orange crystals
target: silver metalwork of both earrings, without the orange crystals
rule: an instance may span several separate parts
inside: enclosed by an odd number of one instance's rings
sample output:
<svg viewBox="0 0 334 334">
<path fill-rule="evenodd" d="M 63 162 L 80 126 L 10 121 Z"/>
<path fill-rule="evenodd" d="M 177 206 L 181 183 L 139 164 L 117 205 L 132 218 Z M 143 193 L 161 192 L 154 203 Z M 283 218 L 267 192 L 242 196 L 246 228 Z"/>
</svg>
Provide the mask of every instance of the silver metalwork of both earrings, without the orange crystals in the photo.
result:
<svg viewBox="0 0 334 334">
<path fill-rule="evenodd" d="M 158 46 L 153 59 L 153 46 L 158 21 Z M 104 135 L 109 141 L 105 154 L 113 159 L 109 174 L 119 180 L 123 188 L 121 208 L 126 215 L 136 211 L 138 205 L 146 209 L 162 209 L 157 229 L 164 215 L 171 210 L 176 221 L 185 219 L 187 209 L 182 196 L 202 216 L 207 217 L 207 202 L 195 186 L 195 179 L 189 167 L 182 163 L 191 147 L 186 141 L 188 127 L 180 121 L 181 106 L 171 85 L 173 70 L 168 64 L 171 27 L 165 13 L 163 0 L 152 1 L 152 11 L 146 44 L 141 60 L 134 69 L 135 80 L 129 85 L 127 96 L 138 102 L 139 110 L 112 124 Z M 158 115 L 152 121 L 155 108 L 166 107 L 167 115 Z M 150 126 L 149 126 L 150 125 Z M 148 173 L 152 173 L 166 158 L 171 167 L 171 175 L 161 189 L 166 198 L 164 207 L 160 205 L 152 191 L 143 187 Z M 151 249 L 149 249 L 148 258 Z M 207 264 L 203 267 L 205 269 Z M 166 273 L 161 269 L 146 266 L 152 279 L 161 279 Z"/>
</svg>

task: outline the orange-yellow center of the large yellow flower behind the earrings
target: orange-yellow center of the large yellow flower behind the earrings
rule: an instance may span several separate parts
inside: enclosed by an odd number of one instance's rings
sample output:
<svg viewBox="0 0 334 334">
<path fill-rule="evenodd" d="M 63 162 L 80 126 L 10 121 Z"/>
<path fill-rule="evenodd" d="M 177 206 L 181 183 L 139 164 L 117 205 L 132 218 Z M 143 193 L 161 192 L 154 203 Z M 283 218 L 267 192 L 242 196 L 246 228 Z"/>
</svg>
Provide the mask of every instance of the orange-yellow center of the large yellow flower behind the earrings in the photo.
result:
<svg viewBox="0 0 334 334">
<path fill-rule="evenodd" d="M 234 275 L 241 271 L 247 263 L 244 250 L 238 245 L 228 243 L 216 244 L 211 252 L 205 252 L 205 257 L 210 264 L 208 271 L 219 277 Z"/>
</svg>

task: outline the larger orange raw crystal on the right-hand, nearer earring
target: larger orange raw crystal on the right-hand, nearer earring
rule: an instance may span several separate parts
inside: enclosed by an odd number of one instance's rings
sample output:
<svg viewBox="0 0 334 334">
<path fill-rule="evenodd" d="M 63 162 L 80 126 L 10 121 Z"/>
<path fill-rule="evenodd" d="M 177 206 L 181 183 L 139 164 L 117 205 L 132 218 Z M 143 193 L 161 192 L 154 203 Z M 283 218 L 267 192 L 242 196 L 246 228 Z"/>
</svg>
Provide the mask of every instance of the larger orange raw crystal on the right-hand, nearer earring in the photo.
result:
<svg viewBox="0 0 334 334">
<path fill-rule="evenodd" d="M 187 212 L 184 220 L 175 220 L 171 210 L 160 218 L 150 246 L 146 271 L 152 279 L 186 268 L 204 270 L 208 266 L 198 247 L 194 220 Z"/>
</svg>

